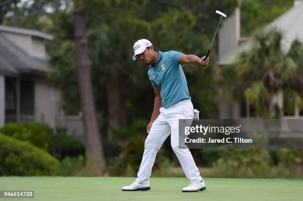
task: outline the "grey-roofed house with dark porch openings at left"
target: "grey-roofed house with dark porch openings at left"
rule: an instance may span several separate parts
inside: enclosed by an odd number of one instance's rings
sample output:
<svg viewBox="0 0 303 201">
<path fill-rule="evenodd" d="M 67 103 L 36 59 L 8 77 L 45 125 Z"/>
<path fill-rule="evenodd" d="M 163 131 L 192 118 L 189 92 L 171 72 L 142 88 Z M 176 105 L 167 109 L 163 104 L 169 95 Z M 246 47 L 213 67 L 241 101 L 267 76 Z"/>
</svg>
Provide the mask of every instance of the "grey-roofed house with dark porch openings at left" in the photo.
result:
<svg viewBox="0 0 303 201">
<path fill-rule="evenodd" d="M 0 126 L 8 121 L 60 121 L 60 90 L 47 82 L 45 40 L 35 30 L 0 26 Z"/>
</svg>

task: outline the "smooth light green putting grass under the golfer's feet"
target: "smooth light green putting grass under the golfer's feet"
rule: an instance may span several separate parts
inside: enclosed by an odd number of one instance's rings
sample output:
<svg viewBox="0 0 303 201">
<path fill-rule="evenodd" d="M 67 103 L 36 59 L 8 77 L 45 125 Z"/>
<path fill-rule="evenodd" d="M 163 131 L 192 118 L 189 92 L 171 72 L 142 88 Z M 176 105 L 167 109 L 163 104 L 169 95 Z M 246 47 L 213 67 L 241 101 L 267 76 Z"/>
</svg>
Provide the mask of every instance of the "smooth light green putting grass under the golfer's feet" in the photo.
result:
<svg viewBox="0 0 303 201">
<path fill-rule="evenodd" d="M 182 193 L 186 178 L 152 177 L 150 191 L 123 192 L 131 177 L 0 177 L 0 190 L 34 190 L 35 201 L 302 201 L 303 180 L 207 179 L 206 191 Z M 20 199 L 0 199 L 0 201 Z"/>
</svg>

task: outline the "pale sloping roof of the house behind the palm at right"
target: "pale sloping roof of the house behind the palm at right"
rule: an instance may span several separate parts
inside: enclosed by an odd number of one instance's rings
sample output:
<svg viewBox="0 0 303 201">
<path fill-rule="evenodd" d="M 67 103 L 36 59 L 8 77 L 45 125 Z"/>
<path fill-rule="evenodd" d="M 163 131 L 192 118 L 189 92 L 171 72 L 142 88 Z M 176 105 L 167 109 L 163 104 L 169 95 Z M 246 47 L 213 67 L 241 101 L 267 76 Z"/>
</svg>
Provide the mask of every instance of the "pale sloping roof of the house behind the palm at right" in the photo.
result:
<svg viewBox="0 0 303 201">
<path fill-rule="evenodd" d="M 281 48 L 284 52 L 287 52 L 292 42 L 295 39 L 298 39 L 303 42 L 303 3 L 289 9 L 283 15 L 272 21 L 268 24 L 263 32 L 267 32 L 271 29 L 276 28 L 281 31 L 283 38 L 281 40 Z M 250 50 L 253 46 L 253 38 L 248 39 L 247 42 L 242 43 L 241 45 L 235 47 L 227 54 L 223 55 L 222 58 L 218 61 L 219 65 L 231 65 L 233 64 L 238 55 L 243 52 Z"/>
</svg>

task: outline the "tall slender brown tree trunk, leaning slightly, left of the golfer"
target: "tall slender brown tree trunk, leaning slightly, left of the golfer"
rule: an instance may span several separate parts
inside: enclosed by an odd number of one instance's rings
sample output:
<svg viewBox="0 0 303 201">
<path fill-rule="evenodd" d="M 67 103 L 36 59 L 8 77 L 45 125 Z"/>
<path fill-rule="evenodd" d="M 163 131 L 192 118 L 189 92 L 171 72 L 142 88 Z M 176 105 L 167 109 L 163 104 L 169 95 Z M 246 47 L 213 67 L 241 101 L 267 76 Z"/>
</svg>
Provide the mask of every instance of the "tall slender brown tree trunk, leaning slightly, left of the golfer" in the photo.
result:
<svg viewBox="0 0 303 201">
<path fill-rule="evenodd" d="M 86 37 L 85 20 L 82 11 L 75 11 L 75 41 L 77 52 L 78 82 L 81 110 L 84 120 L 86 146 L 90 154 L 101 159 L 98 167 L 105 166 L 103 146 L 99 134 L 95 101 L 91 81 L 91 61 L 89 59 L 88 40 Z"/>
</svg>

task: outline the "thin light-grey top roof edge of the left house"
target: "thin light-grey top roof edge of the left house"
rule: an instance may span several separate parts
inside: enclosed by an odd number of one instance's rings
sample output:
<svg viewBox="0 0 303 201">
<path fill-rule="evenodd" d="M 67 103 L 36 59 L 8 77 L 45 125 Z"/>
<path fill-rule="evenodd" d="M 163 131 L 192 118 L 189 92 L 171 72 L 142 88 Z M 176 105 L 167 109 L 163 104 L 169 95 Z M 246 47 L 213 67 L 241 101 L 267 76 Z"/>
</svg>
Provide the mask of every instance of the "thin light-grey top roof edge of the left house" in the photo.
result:
<svg viewBox="0 0 303 201">
<path fill-rule="evenodd" d="M 34 37 L 38 37 L 41 39 L 53 40 L 53 36 L 39 32 L 37 30 L 31 30 L 31 29 L 23 29 L 23 28 L 8 27 L 8 26 L 0 25 L 0 32 L 34 36 Z"/>
</svg>

